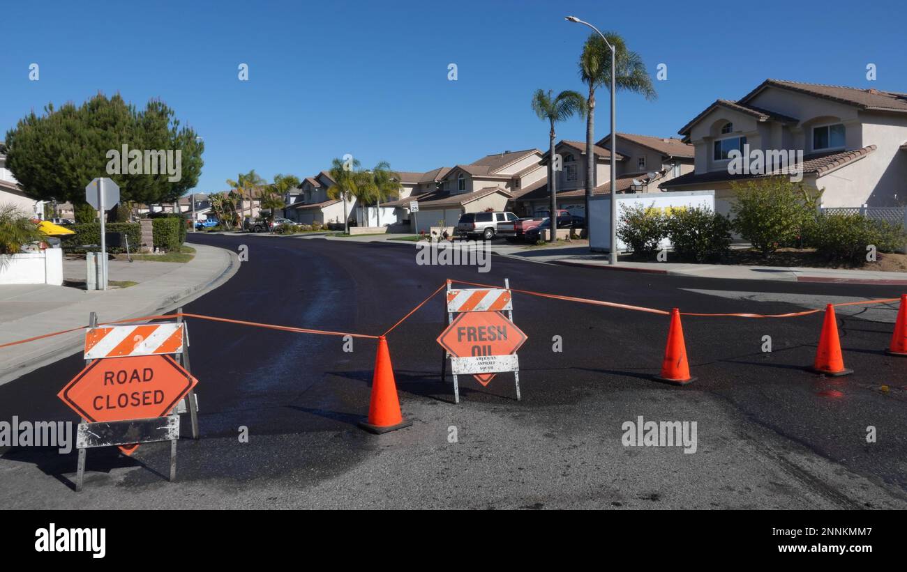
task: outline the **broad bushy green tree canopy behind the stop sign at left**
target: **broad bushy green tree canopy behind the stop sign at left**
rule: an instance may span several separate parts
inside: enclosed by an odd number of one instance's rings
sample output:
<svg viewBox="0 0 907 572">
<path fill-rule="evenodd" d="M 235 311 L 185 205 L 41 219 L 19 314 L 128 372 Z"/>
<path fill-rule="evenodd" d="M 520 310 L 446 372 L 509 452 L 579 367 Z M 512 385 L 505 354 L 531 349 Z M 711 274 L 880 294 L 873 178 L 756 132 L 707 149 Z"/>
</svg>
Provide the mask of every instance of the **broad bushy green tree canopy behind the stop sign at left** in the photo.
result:
<svg viewBox="0 0 907 572">
<path fill-rule="evenodd" d="M 179 180 L 167 172 L 111 174 L 110 153 L 171 150 L 180 153 Z M 204 143 L 190 127 L 180 127 L 175 112 L 161 100 L 137 110 L 117 94 L 99 93 L 76 107 L 49 103 L 34 110 L 6 132 L 6 167 L 26 195 L 39 200 L 84 203 L 84 188 L 95 176 L 109 176 L 120 186 L 123 201 L 164 203 L 177 200 L 199 181 Z M 134 169 L 127 169 L 134 170 Z"/>
</svg>

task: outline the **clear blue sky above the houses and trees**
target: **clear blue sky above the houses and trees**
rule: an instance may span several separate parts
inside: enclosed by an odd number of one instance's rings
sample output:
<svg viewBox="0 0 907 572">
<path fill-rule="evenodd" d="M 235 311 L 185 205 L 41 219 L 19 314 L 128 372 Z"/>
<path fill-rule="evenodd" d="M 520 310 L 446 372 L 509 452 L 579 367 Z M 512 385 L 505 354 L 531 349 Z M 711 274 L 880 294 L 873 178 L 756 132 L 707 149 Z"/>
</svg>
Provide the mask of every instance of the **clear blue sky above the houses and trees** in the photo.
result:
<svg viewBox="0 0 907 572">
<path fill-rule="evenodd" d="M 621 33 L 653 76 L 668 65 L 658 100 L 619 94 L 619 131 L 676 136 L 712 101 L 769 77 L 907 91 L 902 1 L 106 4 L 0 8 L 0 137 L 49 101 L 159 97 L 205 140 L 200 192 L 251 168 L 314 175 L 345 153 L 424 171 L 545 148 L 532 91 L 583 88 L 576 61 L 588 29 L 566 14 Z M 28 81 L 32 62 L 40 81 Z M 450 62 L 458 81 L 447 81 Z M 869 62 L 878 81 L 865 78 Z M 607 97 L 600 91 L 596 138 L 608 133 Z M 558 135 L 584 139 L 584 124 Z"/>
</svg>

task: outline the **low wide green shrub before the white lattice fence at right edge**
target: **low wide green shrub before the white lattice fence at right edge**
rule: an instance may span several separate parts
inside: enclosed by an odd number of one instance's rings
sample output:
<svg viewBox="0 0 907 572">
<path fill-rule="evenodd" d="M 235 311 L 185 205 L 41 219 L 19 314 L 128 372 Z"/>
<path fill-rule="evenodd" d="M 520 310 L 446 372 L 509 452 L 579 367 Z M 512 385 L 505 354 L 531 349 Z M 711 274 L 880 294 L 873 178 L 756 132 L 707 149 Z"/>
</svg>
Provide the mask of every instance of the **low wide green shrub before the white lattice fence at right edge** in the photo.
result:
<svg viewBox="0 0 907 572">
<path fill-rule="evenodd" d="M 860 264 L 872 244 L 879 252 L 903 248 L 907 233 L 901 224 L 874 221 L 863 215 L 818 215 L 806 233 L 806 242 L 829 261 Z"/>
</svg>

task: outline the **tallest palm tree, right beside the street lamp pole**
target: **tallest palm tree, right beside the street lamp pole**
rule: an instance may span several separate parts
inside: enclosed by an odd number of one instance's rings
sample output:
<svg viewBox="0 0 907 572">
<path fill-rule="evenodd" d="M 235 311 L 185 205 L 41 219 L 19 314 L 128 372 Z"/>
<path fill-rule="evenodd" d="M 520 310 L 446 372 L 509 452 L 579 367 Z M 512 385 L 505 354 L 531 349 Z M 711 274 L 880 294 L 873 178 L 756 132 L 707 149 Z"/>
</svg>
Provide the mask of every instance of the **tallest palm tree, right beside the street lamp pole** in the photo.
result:
<svg viewBox="0 0 907 572">
<path fill-rule="evenodd" d="M 608 38 L 608 43 L 614 46 L 614 65 L 617 68 L 614 76 L 616 89 L 639 93 L 647 100 L 654 100 L 658 97 L 639 53 L 629 52 L 627 43 L 618 33 L 607 32 L 604 35 Z M 580 79 L 589 88 L 589 95 L 586 98 L 586 233 L 589 234 L 589 199 L 592 196 L 592 189 L 595 188 L 595 155 L 593 153 L 595 90 L 600 86 L 610 90 L 611 81 L 611 52 L 598 33 L 590 33 L 586 43 L 582 46 L 579 65 Z M 613 137 L 614 134 L 611 134 L 609 138 L 612 141 L 610 152 L 616 153 Z M 611 189 L 611 192 L 614 193 L 614 189 Z"/>
</svg>

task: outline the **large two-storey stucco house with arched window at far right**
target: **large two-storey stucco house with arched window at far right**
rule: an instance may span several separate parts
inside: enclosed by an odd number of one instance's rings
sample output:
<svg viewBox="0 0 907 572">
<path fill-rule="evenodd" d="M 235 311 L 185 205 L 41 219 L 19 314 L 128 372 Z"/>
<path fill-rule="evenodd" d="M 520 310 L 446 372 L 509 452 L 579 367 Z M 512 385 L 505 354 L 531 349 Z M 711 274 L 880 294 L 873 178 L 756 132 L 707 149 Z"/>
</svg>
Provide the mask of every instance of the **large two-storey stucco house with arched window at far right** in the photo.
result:
<svg viewBox="0 0 907 572">
<path fill-rule="evenodd" d="M 734 200 L 731 182 L 768 175 L 799 173 L 806 186 L 824 189 L 826 207 L 907 200 L 904 93 L 766 80 L 740 100 L 716 100 L 679 133 L 696 148 L 695 169 L 659 186 L 714 190 L 722 214 Z M 751 157 L 765 157 L 761 169 L 728 168 L 731 152 L 745 146 Z M 787 151 L 801 152 L 802 165 L 786 161 Z"/>
</svg>

